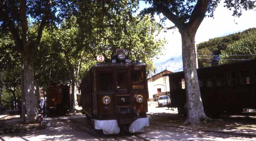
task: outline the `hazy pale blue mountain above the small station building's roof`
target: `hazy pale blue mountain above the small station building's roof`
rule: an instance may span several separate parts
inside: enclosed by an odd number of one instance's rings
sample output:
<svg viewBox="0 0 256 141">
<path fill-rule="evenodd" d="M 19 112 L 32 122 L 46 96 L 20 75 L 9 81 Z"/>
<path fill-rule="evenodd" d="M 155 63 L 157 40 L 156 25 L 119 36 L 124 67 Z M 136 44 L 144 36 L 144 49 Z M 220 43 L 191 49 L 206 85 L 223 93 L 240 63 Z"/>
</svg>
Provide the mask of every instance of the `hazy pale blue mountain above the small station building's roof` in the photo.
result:
<svg viewBox="0 0 256 141">
<path fill-rule="evenodd" d="M 167 68 L 168 71 L 171 72 L 180 72 L 183 71 L 182 65 L 182 54 L 178 56 L 171 56 L 169 59 L 155 63 L 156 66 L 156 74 Z"/>
</svg>

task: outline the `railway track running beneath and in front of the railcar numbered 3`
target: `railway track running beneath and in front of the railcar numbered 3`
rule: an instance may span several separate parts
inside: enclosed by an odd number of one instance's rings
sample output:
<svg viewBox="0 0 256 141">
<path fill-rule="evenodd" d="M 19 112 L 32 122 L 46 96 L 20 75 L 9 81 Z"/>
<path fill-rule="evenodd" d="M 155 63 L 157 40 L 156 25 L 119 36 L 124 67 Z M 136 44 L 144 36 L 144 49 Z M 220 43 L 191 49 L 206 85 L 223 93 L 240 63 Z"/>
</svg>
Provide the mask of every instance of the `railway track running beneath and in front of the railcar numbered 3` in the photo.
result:
<svg viewBox="0 0 256 141">
<path fill-rule="evenodd" d="M 85 132 L 101 141 L 113 141 L 113 140 L 114 141 L 124 141 L 124 140 L 127 140 L 127 141 L 134 141 L 134 140 L 150 141 L 140 135 L 137 135 L 138 133 L 136 133 L 136 134 L 123 133 L 123 134 L 117 134 L 117 135 L 104 135 L 99 130 L 94 129 L 92 127 L 92 125 L 88 126 L 88 121 L 87 121 L 87 124 L 85 124 L 83 122 L 79 122 L 79 121 L 69 118 L 69 117 L 65 117 L 65 119 L 57 117 L 57 119 L 75 127 L 74 129 L 79 130 L 81 132 Z M 87 127 L 87 128 L 83 128 L 83 127 Z"/>
</svg>

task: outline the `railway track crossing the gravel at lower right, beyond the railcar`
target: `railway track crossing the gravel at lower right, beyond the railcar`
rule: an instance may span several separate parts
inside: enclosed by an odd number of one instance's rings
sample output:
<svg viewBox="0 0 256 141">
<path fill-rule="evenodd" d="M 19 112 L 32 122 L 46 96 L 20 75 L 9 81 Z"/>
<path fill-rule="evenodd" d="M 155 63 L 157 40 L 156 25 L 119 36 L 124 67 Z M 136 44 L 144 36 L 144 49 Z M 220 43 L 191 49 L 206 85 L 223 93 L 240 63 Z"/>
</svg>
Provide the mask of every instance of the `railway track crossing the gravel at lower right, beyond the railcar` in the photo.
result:
<svg viewBox="0 0 256 141">
<path fill-rule="evenodd" d="M 232 133 L 232 132 L 224 132 L 224 131 L 214 131 L 214 130 L 207 130 L 207 129 L 197 129 L 197 128 L 189 128 L 189 127 L 177 127 L 177 126 L 170 126 L 170 125 L 161 125 L 161 124 L 153 124 L 151 125 L 155 126 L 162 126 L 162 127 L 167 127 L 167 128 L 176 128 L 176 129 L 187 129 L 187 130 L 192 130 L 196 131 L 197 133 L 200 134 L 209 134 L 210 136 L 215 136 L 215 137 L 223 137 L 225 136 L 226 138 L 230 139 L 238 139 L 238 138 L 243 138 L 242 140 L 246 140 L 245 138 L 256 138 L 256 135 L 251 135 L 251 134 L 242 134 L 242 133 Z M 232 136 L 232 137 L 230 137 Z M 251 141 L 251 140 L 249 140 Z"/>
</svg>

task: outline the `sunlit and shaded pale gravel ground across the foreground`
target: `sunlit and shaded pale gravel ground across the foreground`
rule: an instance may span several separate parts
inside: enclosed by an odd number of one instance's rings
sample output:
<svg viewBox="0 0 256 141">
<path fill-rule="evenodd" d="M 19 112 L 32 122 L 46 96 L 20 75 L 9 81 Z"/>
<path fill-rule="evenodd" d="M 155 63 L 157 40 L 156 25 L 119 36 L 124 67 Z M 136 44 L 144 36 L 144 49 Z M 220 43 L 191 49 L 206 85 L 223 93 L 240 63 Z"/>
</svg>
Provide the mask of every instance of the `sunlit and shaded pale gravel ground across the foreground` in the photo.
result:
<svg viewBox="0 0 256 141">
<path fill-rule="evenodd" d="M 215 119 L 212 122 L 202 123 L 197 126 L 183 125 L 185 117 L 178 116 L 177 109 L 168 110 L 166 107 L 149 106 L 147 115 L 150 117 L 151 125 L 145 127 L 144 132 L 120 135 L 103 135 L 102 132 L 96 131 L 91 127 L 90 120 L 80 114 L 66 116 L 78 121 L 77 123 L 79 125 L 73 126 L 72 124 L 67 124 L 67 122 L 51 117 L 45 119 L 44 129 L 38 129 L 39 123 L 23 124 L 16 116 L 6 116 L 3 119 L 11 119 L 7 120 L 5 123 L 14 133 L 4 133 L 0 131 L 0 136 L 6 141 L 22 140 L 18 135 L 30 141 L 143 140 L 135 138 L 136 136 L 150 141 L 256 141 L 255 115 L 226 117 L 221 120 Z M 60 118 L 65 119 L 66 117 Z M 1 119 L 1 122 L 3 119 Z M 68 119 L 66 120 L 68 121 Z M 46 124 L 49 126 L 46 126 Z M 96 134 L 89 135 L 82 130 L 78 130 L 77 126 L 91 130 L 92 133 L 94 132 Z"/>
</svg>

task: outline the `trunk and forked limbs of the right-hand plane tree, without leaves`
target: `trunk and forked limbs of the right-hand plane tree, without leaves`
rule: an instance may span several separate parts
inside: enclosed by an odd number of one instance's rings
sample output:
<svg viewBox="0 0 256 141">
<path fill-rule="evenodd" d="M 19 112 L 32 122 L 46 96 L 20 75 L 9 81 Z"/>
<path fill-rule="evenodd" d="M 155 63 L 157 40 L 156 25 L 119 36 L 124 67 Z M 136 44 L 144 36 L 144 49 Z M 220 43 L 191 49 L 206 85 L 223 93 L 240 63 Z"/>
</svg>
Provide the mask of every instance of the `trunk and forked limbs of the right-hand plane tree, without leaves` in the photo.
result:
<svg viewBox="0 0 256 141">
<path fill-rule="evenodd" d="M 156 6 L 156 10 L 172 21 L 181 34 L 183 71 L 187 98 L 185 104 L 187 120 L 185 124 L 197 124 L 202 119 L 209 119 L 203 110 L 195 60 L 195 36 L 197 29 L 204 19 L 209 0 L 197 1 L 188 22 L 183 21 L 182 18 L 172 13 L 169 7 L 162 1 L 154 0 L 153 3 Z"/>
</svg>

